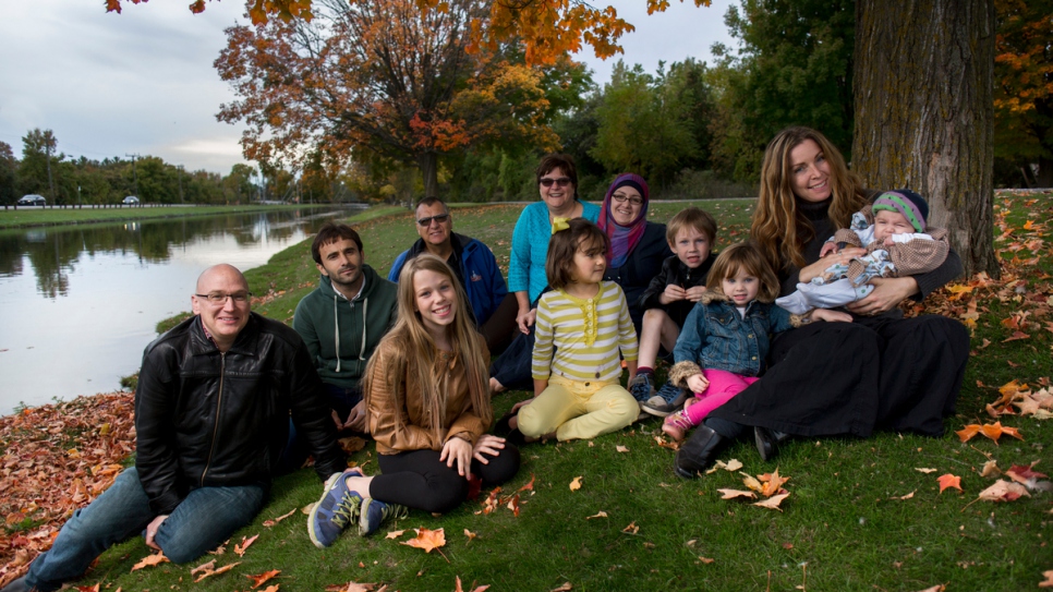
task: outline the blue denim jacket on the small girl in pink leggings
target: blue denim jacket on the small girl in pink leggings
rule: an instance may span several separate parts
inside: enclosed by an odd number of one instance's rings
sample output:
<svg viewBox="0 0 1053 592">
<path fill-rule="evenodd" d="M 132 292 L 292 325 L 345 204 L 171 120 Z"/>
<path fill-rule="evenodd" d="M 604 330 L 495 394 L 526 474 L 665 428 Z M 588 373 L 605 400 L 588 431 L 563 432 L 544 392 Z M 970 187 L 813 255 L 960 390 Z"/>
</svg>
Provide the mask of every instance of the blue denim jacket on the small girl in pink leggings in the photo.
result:
<svg viewBox="0 0 1053 592">
<path fill-rule="evenodd" d="M 707 292 L 683 322 L 673 358 L 677 364 L 690 362 L 701 369 L 760 376 L 765 370 L 771 334 L 800 324 L 799 315 L 757 300 L 746 306 L 743 317 L 727 297 Z"/>
</svg>

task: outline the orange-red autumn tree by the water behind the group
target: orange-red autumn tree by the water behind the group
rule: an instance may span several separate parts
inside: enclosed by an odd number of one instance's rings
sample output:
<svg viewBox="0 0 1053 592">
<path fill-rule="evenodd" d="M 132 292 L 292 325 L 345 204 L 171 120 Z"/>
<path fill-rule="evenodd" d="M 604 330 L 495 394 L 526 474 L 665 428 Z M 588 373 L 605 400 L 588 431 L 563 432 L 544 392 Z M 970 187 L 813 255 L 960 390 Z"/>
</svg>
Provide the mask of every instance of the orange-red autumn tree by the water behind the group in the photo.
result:
<svg viewBox="0 0 1053 592">
<path fill-rule="evenodd" d="M 239 100 L 219 119 L 249 124 L 245 157 L 302 164 L 354 155 L 412 164 L 436 195 L 439 157 L 485 142 L 555 148 L 542 72 L 483 48 L 470 23 L 487 4 L 421 14 L 413 0 L 316 0 L 310 21 L 227 29 L 216 60 Z"/>
</svg>

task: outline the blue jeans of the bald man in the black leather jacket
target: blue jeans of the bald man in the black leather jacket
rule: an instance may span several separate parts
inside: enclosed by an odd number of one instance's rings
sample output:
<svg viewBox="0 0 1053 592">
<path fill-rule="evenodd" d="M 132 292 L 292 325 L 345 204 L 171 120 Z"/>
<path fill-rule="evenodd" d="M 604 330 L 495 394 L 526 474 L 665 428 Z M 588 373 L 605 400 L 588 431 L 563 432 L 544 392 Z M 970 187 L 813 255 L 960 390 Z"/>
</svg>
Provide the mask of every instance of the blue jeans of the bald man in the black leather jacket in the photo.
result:
<svg viewBox="0 0 1053 592">
<path fill-rule="evenodd" d="M 193 490 L 161 523 L 154 541 L 172 563 L 191 561 L 247 524 L 265 499 L 259 485 Z M 111 545 L 142 532 L 156 516 L 138 471 L 126 469 L 95 502 L 73 512 L 51 549 L 29 566 L 26 584 L 45 592 L 58 590 Z"/>
</svg>

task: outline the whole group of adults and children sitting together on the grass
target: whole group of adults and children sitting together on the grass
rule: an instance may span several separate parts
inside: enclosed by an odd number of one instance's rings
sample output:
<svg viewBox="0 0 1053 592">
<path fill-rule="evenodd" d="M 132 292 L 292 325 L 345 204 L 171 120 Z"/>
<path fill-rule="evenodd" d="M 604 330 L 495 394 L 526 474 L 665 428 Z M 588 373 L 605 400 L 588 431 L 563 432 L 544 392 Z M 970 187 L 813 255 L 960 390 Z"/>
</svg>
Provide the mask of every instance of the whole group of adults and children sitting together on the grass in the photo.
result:
<svg viewBox="0 0 1053 592">
<path fill-rule="evenodd" d="M 537 185 L 507 285 L 437 198 L 417 205 L 421 239 L 389 279 L 365 264 L 353 229 L 323 227 L 320 282 L 292 328 L 251 312 L 238 269 L 206 269 L 194 316 L 144 352 L 135 466 L 2 592 L 56 590 L 137 533 L 193 560 L 308 455 L 325 481 L 308 534 L 325 547 L 410 508 L 456 508 L 511 479 L 528 442 L 593 438 L 649 414 L 683 440 L 683 478 L 740 437 L 767 460 L 790 437 L 943 434 L 968 333 L 943 316 L 904 318 L 897 304 L 958 276 L 958 256 L 920 195 L 868 192 L 819 132 L 771 142 L 750 241 L 719 253 L 699 208 L 647 220 L 637 174 L 615 179 L 597 207 L 578 198 L 573 161 L 550 155 Z M 668 380 L 655 388 L 663 355 Z M 534 396 L 495 419 L 491 396 L 506 388 Z M 376 440 L 379 474 L 347 469 L 344 431 Z"/>
</svg>

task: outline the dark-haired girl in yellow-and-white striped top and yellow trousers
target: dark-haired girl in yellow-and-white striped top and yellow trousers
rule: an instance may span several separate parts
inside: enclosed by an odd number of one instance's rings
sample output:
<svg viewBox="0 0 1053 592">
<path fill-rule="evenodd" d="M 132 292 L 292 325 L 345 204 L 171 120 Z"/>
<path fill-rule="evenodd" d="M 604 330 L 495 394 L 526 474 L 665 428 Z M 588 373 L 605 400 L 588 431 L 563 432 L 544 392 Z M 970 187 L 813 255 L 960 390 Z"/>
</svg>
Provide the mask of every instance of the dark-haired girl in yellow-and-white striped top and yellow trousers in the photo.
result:
<svg viewBox="0 0 1053 592">
<path fill-rule="evenodd" d="M 588 220 L 553 221 L 545 263 L 553 289 L 537 304 L 534 398 L 517 404 L 528 438 L 592 438 L 639 415 L 620 382 L 621 358 L 630 380 L 637 372 L 637 331 L 621 288 L 603 281 L 608 241 Z"/>
</svg>

